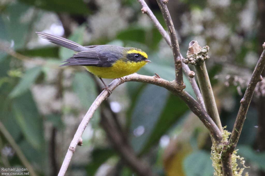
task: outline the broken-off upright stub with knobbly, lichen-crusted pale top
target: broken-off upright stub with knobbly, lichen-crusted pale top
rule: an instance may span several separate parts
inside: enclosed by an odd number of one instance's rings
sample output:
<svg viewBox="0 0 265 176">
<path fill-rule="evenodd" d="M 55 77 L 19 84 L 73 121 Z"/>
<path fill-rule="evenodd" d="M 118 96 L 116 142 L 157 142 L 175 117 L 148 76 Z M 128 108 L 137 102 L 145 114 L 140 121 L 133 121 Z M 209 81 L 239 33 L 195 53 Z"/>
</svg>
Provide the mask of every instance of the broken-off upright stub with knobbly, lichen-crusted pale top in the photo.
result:
<svg viewBox="0 0 265 176">
<path fill-rule="evenodd" d="M 191 41 L 189 43 L 187 59 L 183 59 L 183 62 L 185 64 L 194 65 L 198 83 L 201 89 L 201 94 L 205 102 L 206 111 L 217 124 L 219 130 L 223 132 L 223 127 L 220 121 L 213 90 L 205 65 L 205 60 L 209 59 L 208 51 L 209 46 L 201 48 L 197 41 Z"/>
</svg>

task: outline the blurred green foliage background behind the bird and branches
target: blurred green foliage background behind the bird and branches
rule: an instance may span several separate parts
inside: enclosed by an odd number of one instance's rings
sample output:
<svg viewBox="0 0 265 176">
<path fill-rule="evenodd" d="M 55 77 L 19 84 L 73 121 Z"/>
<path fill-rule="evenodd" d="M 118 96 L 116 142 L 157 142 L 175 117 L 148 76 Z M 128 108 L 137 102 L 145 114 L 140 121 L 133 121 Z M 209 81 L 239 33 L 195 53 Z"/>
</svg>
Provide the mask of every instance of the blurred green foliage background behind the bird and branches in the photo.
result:
<svg viewBox="0 0 265 176">
<path fill-rule="evenodd" d="M 147 3 L 165 27 L 156 1 Z M 264 1 L 170 0 L 168 7 L 184 57 L 191 40 L 210 46 L 208 73 L 222 125 L 231 131 L 265 41 Z M 0 1 L 0 122 L 6 128 L 0 130 L 0 167 L 24 167 L 3 135 L 7 130 L 38 175 L 57 175 L 103 87 L 81 66 L 58 67 L 74 52 L 40 39 L 36 31 L 82 45 L 141 48 L 152 63 L 139 74 L 174 79 L 173 54 L 141 8 L 136 0 Z M 186 77 L 184 82 L 194 96 Z M 264 97 L 265 82 L 259 82 L 237 147 L 250 175 L 265 175 Z M 106 123 L 116 125 L 159 175 L 213 175 L 211 141 L 198 118 L 166 89 L 136 82 L 117 87 L 96 111 L 66 175 L 137 175 L 113 148 Z"/>
</svg>

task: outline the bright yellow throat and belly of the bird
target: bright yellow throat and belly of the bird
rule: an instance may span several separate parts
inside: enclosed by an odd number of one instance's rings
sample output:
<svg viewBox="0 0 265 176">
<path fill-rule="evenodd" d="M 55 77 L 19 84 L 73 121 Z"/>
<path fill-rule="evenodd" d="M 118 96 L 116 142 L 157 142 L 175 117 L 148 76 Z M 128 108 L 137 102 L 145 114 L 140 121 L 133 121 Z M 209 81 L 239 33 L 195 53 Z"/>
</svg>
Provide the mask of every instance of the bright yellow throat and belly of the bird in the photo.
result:
<svg viewBox="0 0 265 176">
<path fill-rule="evenodd" d="M 121 60 L 116 61 L 110 67 L 98 67 L 98 66 L 84 66 L 89 72 L 100 78 L 115 79 L 123 76 L 133 74 L 140 70 L 147 62 L 124 62 Z"/>
</svg>

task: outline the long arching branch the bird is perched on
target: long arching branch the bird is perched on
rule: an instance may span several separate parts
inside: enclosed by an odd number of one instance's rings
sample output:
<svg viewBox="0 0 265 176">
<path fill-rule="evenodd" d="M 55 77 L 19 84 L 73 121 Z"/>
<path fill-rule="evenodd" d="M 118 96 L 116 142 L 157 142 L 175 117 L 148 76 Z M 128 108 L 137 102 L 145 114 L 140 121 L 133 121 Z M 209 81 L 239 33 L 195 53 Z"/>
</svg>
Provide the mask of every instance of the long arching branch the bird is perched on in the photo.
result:
<svg viewBox="0 0 265 176">
<path fill-rule="evenodd" d="M 191 111 L 200 118 L 202 123 L 204 123 L 204 125 L 210 131 L 217 145 L 222 140 L 221 132 L 216 126 L 216 124 L 214 123 L 214 121 L 211 119 L 211 117 L 205 112 L 205 110 L 200 106 L 200 104 L 191 95 L 189 95 L 186 91 L 183 90 L 185 85 L 179 85 L 175 82 L 175 80 L 172 82 L 169 82 L 162 78 L 139 75 L 139 74 L 134 73 L 134 74 L 125 76 L 122 79 L 120 78 L 114 79 L 108 85 L 109 90 L 113 91 L 118 85 L 122 84 L 123 82 L 129 82 L 129 81 L 149 83 L 149 84 L 154 84 L 154 85 L 158 85 L 160 87 L 166 88 L 173 94 L 180 97 L 188 105 Z M 89 123 L 90 118 L 92 117 L 94 112 L 98 109 L 100 104 L 107 98 L 107 96 L 108 96 L 108 91 L 106 90 L 102 91 L 99 94 L 99 96 L 95 99 L 95 101 L 92 103 L 92 105 L 90 106 L 85 117 L 83 118 L 82 122 L 78 126 L 76 134 L 74 135 L 74 138 L 68 148 L 67 154 L 65 155 L 63 164 L 58 174 L 59 176 L 63 176 L 65 174 L 78 143 L 82 141 L 81 136 L 87 124 Z"/>
</svg>

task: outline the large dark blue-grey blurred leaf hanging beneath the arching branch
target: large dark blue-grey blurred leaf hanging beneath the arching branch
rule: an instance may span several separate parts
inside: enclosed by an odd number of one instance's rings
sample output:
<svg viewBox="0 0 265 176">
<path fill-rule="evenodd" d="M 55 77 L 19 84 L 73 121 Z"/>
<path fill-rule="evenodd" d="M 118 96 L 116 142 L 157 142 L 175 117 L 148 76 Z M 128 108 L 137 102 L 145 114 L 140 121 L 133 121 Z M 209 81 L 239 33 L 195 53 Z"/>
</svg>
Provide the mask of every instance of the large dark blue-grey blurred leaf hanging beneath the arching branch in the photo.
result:
<svg viewBox="0 0 265 176">
<path fill-rule="evenodd" d="M 168 95 L 169 92 L 165 88 L 155 85 L 147 85 L 140 93 L 131 116 L 130 126 L 130 143 L 136 152 L 140 152 L 149 139 L 165 107 Z"/>
</svg>

